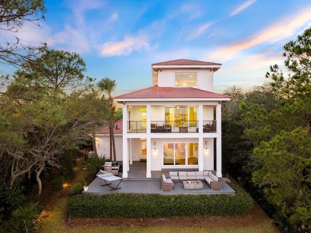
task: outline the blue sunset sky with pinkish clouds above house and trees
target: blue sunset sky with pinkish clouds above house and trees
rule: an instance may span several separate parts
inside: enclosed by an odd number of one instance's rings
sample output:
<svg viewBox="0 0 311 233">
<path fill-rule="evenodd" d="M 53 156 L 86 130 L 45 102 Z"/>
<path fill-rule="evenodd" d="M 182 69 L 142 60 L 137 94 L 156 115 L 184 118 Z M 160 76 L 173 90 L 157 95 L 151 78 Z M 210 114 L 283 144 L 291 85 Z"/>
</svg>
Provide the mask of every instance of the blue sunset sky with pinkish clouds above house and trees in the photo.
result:
<svg viewBox="0 0 311 233">
<path fill-rule="evenodd" d="M 284 62 L 283 45 L 311 27 L 311 0 L 45 0 L 40 27 L 24 23 L 24 44 L 79 54 L 86 75 L 115 79 L 113 95 L 152 86 L 151 64 L 222 63 L 214 91 L 251 90 Z M 3 33 L 1 32 L 1 36 Z M 4 73 L 13 67 L 0 64 Z"/>
</svg>

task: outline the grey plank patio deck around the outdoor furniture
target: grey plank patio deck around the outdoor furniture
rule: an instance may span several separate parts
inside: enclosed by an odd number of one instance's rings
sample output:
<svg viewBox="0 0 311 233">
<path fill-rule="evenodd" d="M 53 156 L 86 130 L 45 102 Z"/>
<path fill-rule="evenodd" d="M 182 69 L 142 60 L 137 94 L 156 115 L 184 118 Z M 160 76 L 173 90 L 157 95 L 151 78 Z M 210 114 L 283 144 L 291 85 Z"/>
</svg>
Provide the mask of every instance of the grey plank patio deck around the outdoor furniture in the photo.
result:
<svg viewBox="0 0 311 233">
<path fill-rule="evenodd" d="M 86 193 L 95 195 L 104 195 L 112 193 L 129 193 L 129 194 L 162 194 L 162 195 L 178 195 L 178 194 L 234 194 L 235 191 L 225 182 L 222 181 L 221 190 L 211 190 L 208 185 L 203 182 L 203 189 L 200 190 L 185 190 L 183 183 L 174 183 L 173 191 L 161 191 L 160 176 L 164 174 L 168 177 L 168 172 L 153 171 L 152 178 L 146 178 L 146 163 L 135 161 L 130 165 L 128 178 L 124 178 L 117 190 L 112 190 L 108 186 L 101 186 L 105 184 L 104 179 L 96 177 L 89 185 Z M 122 174 L 119 173 L 119 177 Z M 116 187 L 120 180 L 111 181 L 111 186 Z M 84 192 L 83 192 L 84 193 Z"/>
</svg>

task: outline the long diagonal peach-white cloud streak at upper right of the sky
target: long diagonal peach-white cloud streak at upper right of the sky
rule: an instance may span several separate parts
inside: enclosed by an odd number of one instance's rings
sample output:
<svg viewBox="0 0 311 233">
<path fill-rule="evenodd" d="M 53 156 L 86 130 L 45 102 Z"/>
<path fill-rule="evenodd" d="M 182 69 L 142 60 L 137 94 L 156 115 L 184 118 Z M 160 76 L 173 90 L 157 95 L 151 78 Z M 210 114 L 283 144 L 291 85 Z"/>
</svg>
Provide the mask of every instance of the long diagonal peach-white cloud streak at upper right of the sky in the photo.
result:
<svg viewBox="0 0 311 233">
<path fill-rule="evenodd" d="M 210 55 L 213 59 L 223 62 L 239 57 L 243 50 L 259 46 L 261 44 L 273 44 L 284 39 L 296 36 L 302 29 L 311 25 L 311 8 L 299 12 L 294 17 L 282 18 L 272 26 L 252 36 L 251 38 L 238 41 L 227 47 L 220 48 Z"/>
</svg>

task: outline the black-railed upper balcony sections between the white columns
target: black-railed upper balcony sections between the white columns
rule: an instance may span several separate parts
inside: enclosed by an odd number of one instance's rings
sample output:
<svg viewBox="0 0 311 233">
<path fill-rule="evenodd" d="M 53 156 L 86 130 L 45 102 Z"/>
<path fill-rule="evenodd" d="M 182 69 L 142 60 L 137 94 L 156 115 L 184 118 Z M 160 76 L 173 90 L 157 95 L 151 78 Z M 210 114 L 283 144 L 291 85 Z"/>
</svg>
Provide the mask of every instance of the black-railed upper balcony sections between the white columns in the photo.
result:
<svg viewBox="0 0 311 233">
<path fill-rule="evenodd" d="M 203 133 L 215 133 L 217 121 L 203 121 Z M 151 133 L 198 133 L 198 121 L 151 121 Z M 146 121 L 128 121 L 128 133 L 146 133 Z"/>
</svg>

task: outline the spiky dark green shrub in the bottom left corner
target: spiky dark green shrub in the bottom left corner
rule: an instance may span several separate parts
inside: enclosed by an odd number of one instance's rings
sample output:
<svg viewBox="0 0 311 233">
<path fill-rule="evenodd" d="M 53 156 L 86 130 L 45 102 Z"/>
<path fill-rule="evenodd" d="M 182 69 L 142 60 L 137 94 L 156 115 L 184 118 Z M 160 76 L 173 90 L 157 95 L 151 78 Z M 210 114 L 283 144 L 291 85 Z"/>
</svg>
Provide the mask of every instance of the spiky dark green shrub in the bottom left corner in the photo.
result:
<svg viewBox="0 0 311 233">
<path fill-rule="evenodd" d="M 35 220 L 39 217 L 39 208 L 34 203 L 27 203 L 13 211 L 10 219 L 6 222 L 7 232 L 31 233 L 36 229 Z"/>
</svg>

